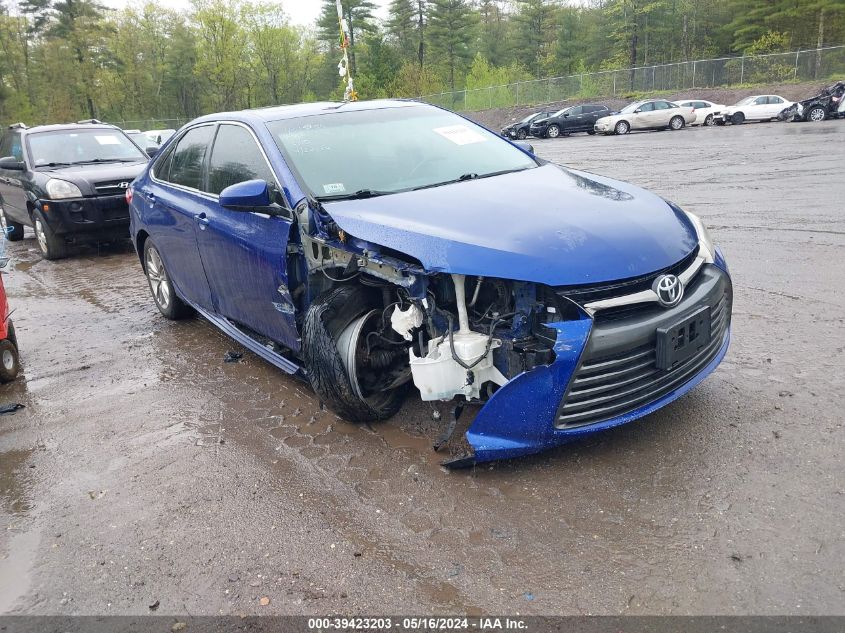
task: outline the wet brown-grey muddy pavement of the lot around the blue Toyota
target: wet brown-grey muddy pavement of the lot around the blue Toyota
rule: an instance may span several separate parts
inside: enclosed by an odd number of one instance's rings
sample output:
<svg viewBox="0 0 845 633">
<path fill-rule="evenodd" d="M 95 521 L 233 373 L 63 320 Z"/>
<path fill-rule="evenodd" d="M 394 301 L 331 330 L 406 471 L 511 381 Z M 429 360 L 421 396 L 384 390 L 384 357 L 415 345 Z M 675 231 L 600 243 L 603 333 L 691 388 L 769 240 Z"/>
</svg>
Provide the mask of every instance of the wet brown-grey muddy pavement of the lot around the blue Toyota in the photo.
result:
<svg viewBox="0 0 845 633">
<path fill-rule="evenodd" d="M 0 416 L 0 613 L 845 614 L 845 122 L 534 144 L 705 219 L 735 284 L 715 374 L 450 473 L 413 398 L 339 420 L 160 317 L 128 245 L 48 262 L 28 232 L 4 276 L 23 375 L 0 401 L 26 409 Z"/>
</svg>

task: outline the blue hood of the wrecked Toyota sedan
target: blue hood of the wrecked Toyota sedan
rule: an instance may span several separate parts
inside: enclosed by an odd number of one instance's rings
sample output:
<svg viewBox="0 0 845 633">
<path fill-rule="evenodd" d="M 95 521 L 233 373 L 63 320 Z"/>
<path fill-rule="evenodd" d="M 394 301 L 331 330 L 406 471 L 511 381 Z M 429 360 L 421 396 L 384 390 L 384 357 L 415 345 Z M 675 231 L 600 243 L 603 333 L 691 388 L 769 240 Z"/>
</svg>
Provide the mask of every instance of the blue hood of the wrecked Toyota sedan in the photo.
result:
<svg viewBox="0 0 845 633">
<path fill-rule="evenodd" d="M 552 286 L 648 274 L 698 243 L 686 216 L 660 197 L 551 164 L 324 206 L 347 233 L 428 271 Z"/>
</svg>

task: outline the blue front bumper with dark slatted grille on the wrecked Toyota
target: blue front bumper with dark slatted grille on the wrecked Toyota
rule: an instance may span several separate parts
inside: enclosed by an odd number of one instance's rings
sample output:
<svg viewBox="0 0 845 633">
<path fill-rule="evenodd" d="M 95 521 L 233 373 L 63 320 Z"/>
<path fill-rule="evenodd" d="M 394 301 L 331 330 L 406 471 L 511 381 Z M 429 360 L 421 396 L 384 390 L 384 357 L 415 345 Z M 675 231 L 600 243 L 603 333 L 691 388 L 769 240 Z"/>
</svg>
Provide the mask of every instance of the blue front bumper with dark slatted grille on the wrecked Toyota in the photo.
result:
<svg viewBox="0 0 845 633">
<path fill-rule="evenodd" d="M 537 453 L 631 422 L 680 398 L 727 352 L 732 300 L 730 276 L 720 256 L 716 264 L 702 267 L 674 308 L 635 309 L 595 320 L 585 315 L 550 324 L 557 331 L 554 362 L 516 376 L 478 412 L 466 433 L 473 460 Z M 711 310 L 710 345 L 670 370 L 656 369 L 657 328 L 703 306 Z M 637 359 L 625 361 L 636 354 Z M 617 364 L 611 370 L 613 362 Z M 597 375 L 602 365 L 608 369 Z"/>
</svg>

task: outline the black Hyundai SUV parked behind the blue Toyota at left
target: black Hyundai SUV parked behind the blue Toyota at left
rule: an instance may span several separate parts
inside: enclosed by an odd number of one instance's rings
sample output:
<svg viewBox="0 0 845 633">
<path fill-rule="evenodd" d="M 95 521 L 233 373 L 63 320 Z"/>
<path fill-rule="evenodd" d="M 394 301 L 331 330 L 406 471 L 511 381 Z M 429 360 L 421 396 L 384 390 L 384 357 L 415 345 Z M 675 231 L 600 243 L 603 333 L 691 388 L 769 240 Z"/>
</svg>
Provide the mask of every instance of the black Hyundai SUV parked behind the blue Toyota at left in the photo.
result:
<svg viewBox="0 0 845 633">
<path fill-rule="evenodd" d="M 113 125 L 10 126 L 0 141 L 0 224 L 6 239 L 35 231 L 45 259 L 71 244 L 129 236 L 126 190 L 147 155 Z"/>
</svg>

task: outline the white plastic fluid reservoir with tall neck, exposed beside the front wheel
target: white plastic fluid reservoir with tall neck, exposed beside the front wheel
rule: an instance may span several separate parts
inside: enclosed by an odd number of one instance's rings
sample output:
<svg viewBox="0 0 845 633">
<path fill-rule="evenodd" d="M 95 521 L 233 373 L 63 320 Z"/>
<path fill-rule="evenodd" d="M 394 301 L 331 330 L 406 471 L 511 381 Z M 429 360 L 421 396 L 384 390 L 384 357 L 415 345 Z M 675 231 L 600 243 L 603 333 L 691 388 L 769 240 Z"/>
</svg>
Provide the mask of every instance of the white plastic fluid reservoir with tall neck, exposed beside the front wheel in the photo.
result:
<svg viewBox="0 0 845 633">
<path fill-rule="evenodd" d="M 448 335 L 429 341 L 428 353 L 424 357 L 416 356 L 413 348 L 409 352 L 411 374 L 423 400 L 451 400 L 458 395 L 478 398 L 481 393 L 481 386 L 485 382 L 492 381 L 497 385 L 504 385 L 507 382 L 507 378 L 493 365 L 493 350 L 500 347 L 502 342 L 493 339 L 488 350 L 487 335 L 469 329 L 466 317 L 464 277 L 463 275 L 452 275 L 452 278 L 455 282 L 460 324 L 458 331 L 452 335 L 455 355 L 466 365 L 475 363 L 469 370 L 472 372 L 472 381 L 469 380 L 468 370 L 462 367 L 452 356 Z M 478 360 L 479 358 L 481 360 Z M 476 363 L 476 361 L 478 362 Z"/>
</svg>

